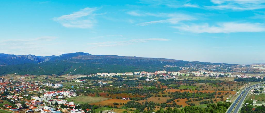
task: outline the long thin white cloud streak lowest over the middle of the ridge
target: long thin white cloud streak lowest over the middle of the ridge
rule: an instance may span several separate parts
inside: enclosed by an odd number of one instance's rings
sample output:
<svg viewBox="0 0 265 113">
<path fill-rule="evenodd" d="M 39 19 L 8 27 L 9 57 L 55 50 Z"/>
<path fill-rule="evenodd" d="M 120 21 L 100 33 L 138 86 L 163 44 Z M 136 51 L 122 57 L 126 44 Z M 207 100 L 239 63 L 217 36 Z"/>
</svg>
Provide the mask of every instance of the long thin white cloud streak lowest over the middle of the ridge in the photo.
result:
<svg viewBox="0 0 265 113">
<path fill-rule="evenodd" d="M 145 43 L 149 41 L 169 41 L 169 39 L 163 38 L 149 38 L 149 39 L 132 39 L 127 41 L 106 41 L 106 42 L 99 42 L 99 43 L 89 43 L 88 45 L 95 45 L 95 47 L 108 47 L 108 46 L 124 46 L 124 45 L 131 45 L 136 43 Z"/>
</svg>

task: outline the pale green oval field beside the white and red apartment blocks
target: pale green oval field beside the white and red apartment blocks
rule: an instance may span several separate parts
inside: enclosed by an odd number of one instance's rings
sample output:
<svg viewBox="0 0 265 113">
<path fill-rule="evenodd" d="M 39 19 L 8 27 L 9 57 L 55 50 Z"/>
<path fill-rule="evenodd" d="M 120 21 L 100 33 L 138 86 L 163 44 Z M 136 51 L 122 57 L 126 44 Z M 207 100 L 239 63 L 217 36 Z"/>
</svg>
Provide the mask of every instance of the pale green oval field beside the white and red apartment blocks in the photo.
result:
<svg viewBox="0 0 265 113">
<path fill-rule="evenodd" d="M 85 104 L 85 103 L 95 103 L 95 102 L 99 102 L 99 101 L 103 101 L 103 100 L 108 100 L 108 98 L 91 97 L 91 96 L 78 96 L 78 97 L 67 98 L 64 100 L 67 100 L 68 102 L 73 101 L 74 103 Z"/>
</svg>

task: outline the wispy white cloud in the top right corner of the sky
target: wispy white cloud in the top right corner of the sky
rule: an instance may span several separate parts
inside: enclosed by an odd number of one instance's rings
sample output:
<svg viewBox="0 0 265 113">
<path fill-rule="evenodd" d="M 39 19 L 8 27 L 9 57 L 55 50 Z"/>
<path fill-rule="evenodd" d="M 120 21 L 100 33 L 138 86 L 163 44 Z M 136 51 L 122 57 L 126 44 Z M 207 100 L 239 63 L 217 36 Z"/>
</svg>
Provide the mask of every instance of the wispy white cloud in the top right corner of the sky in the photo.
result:
<svg viewBox="0 0 265 113">
<path fill-rule="evenodd" d="M 205 6 L 209 9 L 214 10 L 256 10 L 264 9 L 265 1 L 264 0 L 211 0 L 215 5 Z"/>
</svg>

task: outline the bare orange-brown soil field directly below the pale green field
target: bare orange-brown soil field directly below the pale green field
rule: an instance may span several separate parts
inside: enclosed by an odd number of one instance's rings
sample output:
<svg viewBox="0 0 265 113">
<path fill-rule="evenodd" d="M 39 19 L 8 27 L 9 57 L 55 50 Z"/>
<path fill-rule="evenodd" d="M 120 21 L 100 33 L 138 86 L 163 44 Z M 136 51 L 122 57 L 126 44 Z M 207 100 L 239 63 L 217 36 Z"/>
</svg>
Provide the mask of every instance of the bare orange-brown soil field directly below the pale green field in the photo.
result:
<svg viewBox="0 0 265 113">
<path fill-rule="evenodd" d="M 96 102 L 96 103 L 90 103 L 90 105 L 108 105 L 108 106 L 114 106 L 113 103 L 127 103 L 131 100 L 122 100 L 122 99 L 109 99 L 109 100 L 104 100 L 104 101 L 100 101 L 100 102 Z M 123 105 L 116 105 L 117 107 L 121 107 Z"/>
</svg>

